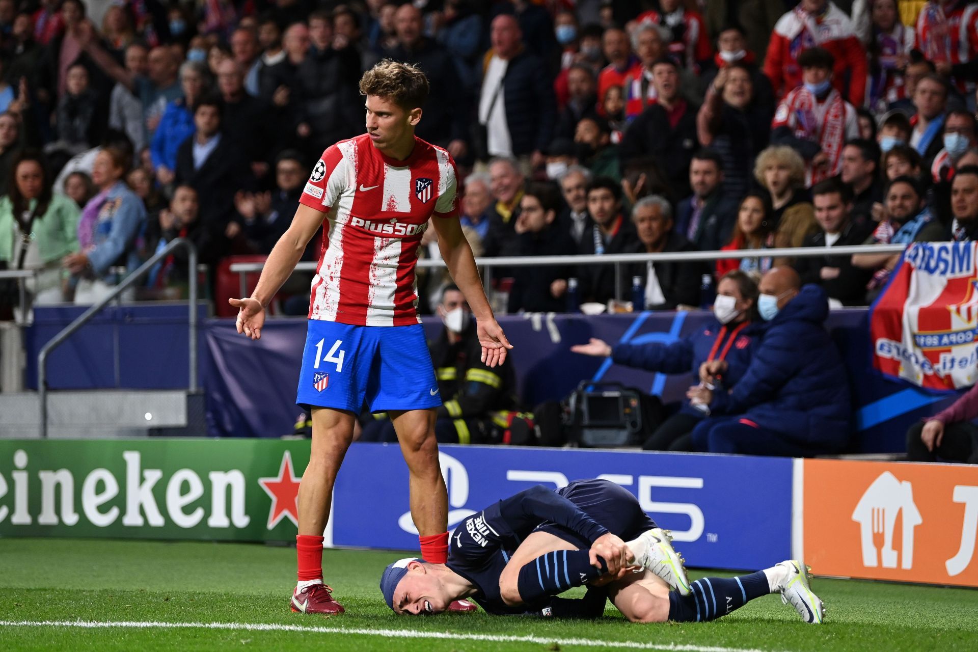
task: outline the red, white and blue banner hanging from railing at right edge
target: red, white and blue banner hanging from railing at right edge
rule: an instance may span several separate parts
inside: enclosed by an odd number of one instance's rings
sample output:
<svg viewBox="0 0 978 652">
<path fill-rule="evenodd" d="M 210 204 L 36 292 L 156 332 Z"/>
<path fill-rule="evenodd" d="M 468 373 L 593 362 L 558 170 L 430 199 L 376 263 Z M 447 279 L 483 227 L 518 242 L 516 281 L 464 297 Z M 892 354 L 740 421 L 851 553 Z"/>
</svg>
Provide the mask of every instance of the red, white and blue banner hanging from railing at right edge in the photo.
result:
<svg viewBox="0 0 978 652">
<path fill-rule="evenodd" d="M 872 365 L 926 389 L 978 381 L 978 242 L 916 242 L 869 312 Z"/>
</svg>

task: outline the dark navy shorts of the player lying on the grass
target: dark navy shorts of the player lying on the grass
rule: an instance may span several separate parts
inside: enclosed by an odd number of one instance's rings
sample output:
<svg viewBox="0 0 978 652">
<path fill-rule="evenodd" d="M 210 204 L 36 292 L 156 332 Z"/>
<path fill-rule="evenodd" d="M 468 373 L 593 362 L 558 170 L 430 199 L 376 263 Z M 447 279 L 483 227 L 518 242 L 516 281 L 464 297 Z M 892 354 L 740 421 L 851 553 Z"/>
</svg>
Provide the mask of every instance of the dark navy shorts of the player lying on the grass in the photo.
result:
<svg viewBox="0 0 978 652">
<path fill-rule="evenodd" d="M 557 494 L 576 504 L 622 541 L 631 541 L 645 530 L 657 527 L 655 521 L 643 511 L 639 500 L 610 480 L 574 480 Z M 556 535 L 581 550 L 591 547 L 591 543 L 583 537 L 556 523 L 541 523 L 536 529 Z"/>
</svg>

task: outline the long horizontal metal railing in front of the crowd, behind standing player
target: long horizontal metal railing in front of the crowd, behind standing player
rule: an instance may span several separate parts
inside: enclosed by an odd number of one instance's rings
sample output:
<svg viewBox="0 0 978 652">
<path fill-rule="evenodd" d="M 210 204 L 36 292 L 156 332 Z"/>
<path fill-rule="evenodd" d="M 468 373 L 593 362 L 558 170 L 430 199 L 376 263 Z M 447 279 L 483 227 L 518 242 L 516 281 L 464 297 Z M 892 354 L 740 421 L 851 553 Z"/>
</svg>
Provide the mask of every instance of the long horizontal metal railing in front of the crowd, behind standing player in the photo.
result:
<svg viewBox="0 0 978 652">
<path fill-rule="evenodd" d="M 547 267 L 554 265 L 614 265 L 615 295 L 621 296 L 621 266 L 628 263 L 684 263 L 707 262 L 727 258 L 813 258 L 818 256 L 851 256 L 859 253 L 903 253 L 906 244 L 851 244 L 845 246 L 779 247 L 773 249 L 737 249 L 733 251 L 669 251 L 664 253 L 605 253 L 569 256 L 499 256 L 476 258 L 475 265 L 482 268 L 482 283 L 488 292 L 492 285 L 492 270 L 499 267 Z M 295 266 L 295 272 L 315 272 L 318 263 L 303 262 Z M 239 275 L 241 295 L 247 295 L 245 275 L 260 272 L 264 263 L 234 263 L 231 271 Z M 443 260 L 430 258 L 418 261 L 421 268 L 444 268 Z"/>
</svg>

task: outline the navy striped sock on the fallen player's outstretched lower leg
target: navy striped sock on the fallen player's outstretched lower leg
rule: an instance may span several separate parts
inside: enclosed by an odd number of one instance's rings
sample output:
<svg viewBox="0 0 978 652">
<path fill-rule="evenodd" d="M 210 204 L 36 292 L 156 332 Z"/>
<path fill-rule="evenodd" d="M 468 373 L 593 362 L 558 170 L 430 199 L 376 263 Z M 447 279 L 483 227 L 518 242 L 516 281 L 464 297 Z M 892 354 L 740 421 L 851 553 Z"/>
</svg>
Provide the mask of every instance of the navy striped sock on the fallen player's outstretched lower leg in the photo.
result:
<svg viewBox="0 0 978 652">
<path fill-rule="evenodd" d="M 703 578 L 692 583 L 689 595 L 683 596 L 676 591 L 669 593 L 669 620 L 677 623 L 712 621 L 770 592 L 764 571 L 733 579 Z"/>
</svg>

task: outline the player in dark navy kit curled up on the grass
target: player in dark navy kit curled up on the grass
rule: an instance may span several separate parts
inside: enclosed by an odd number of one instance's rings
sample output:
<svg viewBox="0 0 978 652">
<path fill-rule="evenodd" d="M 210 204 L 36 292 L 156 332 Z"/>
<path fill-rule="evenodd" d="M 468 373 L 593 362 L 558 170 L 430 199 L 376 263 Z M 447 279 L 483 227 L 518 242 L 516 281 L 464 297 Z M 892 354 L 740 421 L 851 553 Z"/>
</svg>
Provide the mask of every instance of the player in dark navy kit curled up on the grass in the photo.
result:
<svg viewBox="0 0 978 652">
<path fill-rule="evenodd" d="M 614 483 L 577 480 L 557 492 L 537 486 L 459 524 L 447 563 L 410 558 L 390 564 L 380 590 L 398 614 L 440 613 L 453 600 L 471 597 L 492 614 L 598 618 L 608 598 L 635 623 L 710 621 L 780 593 L 805 622 L 822 623 L 822 600 L 803 562 L 690 585 L 670 541 Z M 584 598 L 556 597 L 585 585 Z"/>
</svg>

